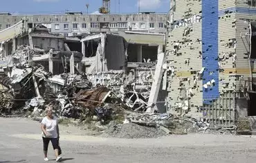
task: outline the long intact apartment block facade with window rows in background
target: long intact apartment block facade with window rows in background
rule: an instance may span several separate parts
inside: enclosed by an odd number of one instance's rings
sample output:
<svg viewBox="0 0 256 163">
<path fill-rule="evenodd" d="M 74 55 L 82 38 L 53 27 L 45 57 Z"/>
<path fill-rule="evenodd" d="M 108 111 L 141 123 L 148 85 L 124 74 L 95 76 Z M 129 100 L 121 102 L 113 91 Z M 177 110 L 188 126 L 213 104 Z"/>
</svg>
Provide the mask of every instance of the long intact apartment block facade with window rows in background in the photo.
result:
<svg viewBox="0 0 256 163">
<path fill-rule="evenodd" d="M 140 12 L 139 14 L 82 14 L 66 12 L 57 15 L 11 15 L 0 14 L 0 30 L 9 28 L 19 21 L 27 20 L 28 28 L 43 24 L 52 33 L 74 36 L 100 32 L 152 32 L 165 33 L 167 14 Z"/>
</svg>

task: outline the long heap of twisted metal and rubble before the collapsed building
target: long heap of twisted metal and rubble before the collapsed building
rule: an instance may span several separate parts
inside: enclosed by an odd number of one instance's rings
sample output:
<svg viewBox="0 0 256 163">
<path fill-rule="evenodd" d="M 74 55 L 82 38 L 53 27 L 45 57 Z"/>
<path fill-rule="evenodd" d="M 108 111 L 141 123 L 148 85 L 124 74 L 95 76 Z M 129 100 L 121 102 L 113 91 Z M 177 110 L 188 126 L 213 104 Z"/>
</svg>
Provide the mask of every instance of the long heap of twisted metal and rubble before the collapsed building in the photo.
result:
<svg viewBox="0 0 256 163">
<path fill-rule="evenodd" d="M 81 121 L 93 118 L 95 128 L 103 135 L 119 138 L 155 138 L 208 129 L 207 124 L 196 120 L 144 112 L 145 95 L 136 92 L 133 85 L 128 91 L 114 93 L 107 87 L 93 87 L 86 74 L 53 76 L 42 65 L 20 67 L 12 67 L 10 76 L 0 80 L 6 87 L 0 96 L 1 114 L 44 116 L 45 107 L 53 105 L 57 116 Z M 134 111 L 140 108 L 142 111 Z"/>
</svg>

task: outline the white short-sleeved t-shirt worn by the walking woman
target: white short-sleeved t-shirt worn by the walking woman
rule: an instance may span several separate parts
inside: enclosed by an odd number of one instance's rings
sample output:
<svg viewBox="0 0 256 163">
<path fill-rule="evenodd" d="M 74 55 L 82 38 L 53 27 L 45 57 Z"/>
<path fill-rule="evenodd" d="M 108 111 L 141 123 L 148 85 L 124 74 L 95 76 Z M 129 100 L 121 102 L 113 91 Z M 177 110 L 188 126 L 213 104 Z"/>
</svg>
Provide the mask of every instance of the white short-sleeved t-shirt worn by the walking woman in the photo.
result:
<svg viewBox="0 0 256 163">
<path fill-rule="evenodd" d="M 46 132 L 49 133 L 49 136 L 46 137 L 44 132 L 42 132 L 42 137 L 44 138 L 57 138 L 57 118 L 53 116 L 52 120 L 49 120 L 47 117 L 44 117 L 42 122 L 46 126 Z"/>
</svg>

